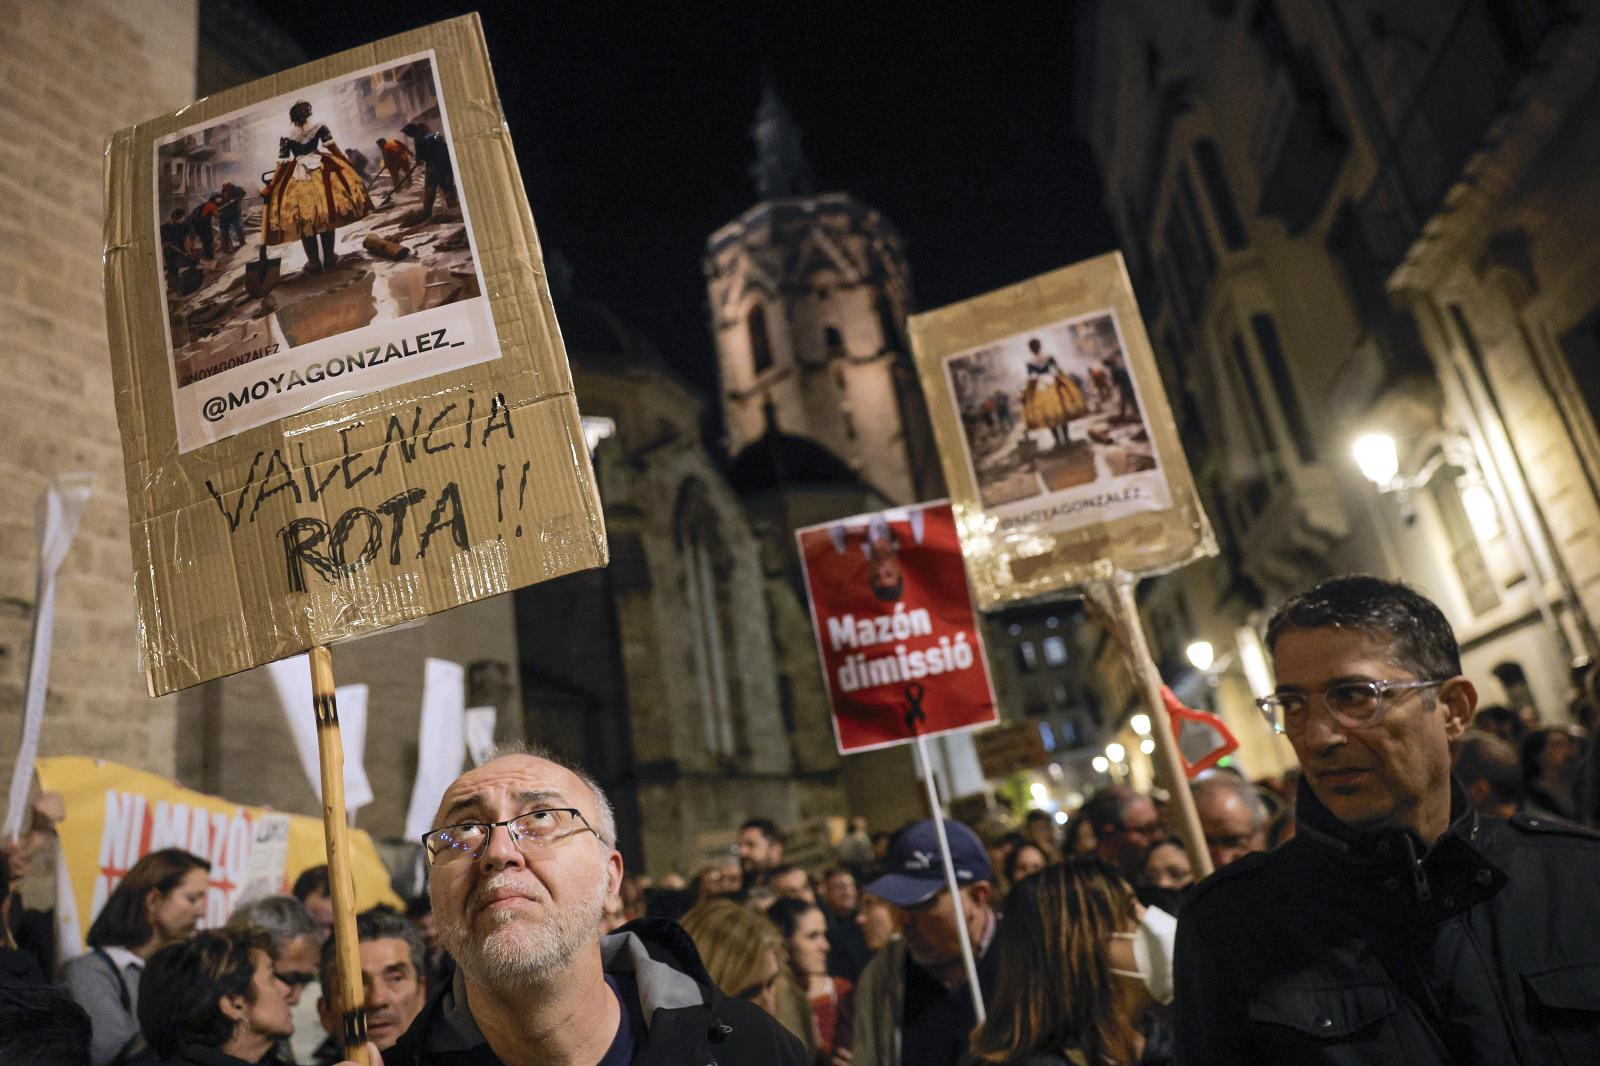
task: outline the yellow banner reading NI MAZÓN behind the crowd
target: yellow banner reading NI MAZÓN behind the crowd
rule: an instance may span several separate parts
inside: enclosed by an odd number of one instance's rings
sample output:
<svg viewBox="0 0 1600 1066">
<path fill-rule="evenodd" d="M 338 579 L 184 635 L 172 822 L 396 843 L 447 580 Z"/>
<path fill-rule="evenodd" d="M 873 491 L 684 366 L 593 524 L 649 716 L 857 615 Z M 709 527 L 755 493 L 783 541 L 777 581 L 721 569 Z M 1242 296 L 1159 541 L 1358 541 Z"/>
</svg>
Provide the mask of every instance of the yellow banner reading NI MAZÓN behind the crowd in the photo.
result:
<svg viewBox="0 0 1600 1066">
<path fill-rule="evenodd" d="M 74 898 L 59 906 L 78 914 L 80 936 L 128 868 L 160 848 L 184 848 L 211 863 L 208 928 L 227 922 L 246 888 L 250 896 L 288 892 L 302 871 L 326 861 L 318 818 L 242 807 L 85 755 L 40 759 L 35 767 L 40 787 L 66 800 L 61 853 Z M 373 839 L 360 829 L 350 831 L 350 868 L 357 911 L 403 906 Z"/>
</svg>

